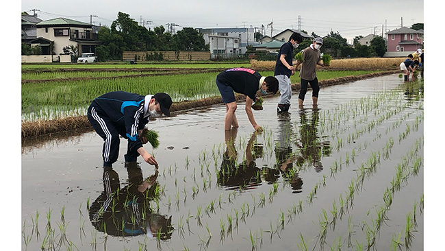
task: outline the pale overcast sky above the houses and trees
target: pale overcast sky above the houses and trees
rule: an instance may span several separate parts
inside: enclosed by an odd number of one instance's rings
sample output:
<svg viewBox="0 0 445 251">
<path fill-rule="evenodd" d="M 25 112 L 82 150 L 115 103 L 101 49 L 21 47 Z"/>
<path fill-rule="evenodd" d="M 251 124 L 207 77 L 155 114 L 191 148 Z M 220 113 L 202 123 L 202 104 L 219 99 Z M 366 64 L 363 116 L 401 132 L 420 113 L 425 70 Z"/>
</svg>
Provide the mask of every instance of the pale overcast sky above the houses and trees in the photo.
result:
<svg viewBox="0 0 445 251">
<path fill-rule="evenodd" d="M 66 17 L 110 26 L 118 12 L 125 12 L 146 27 L 175 23 L 181 27 L 266 27 L 272 36 L 284 29 L 301 29 L 326 36 L 331 30 L 352 42 L 355 36 L 382 34 L 413 23 L 424 23 L 424 1 L 419 0 L 318 0 L 318 1 L 122 1 L 122 0 L 23 0 L 22 12 L 42 20 Z M 148 23 L 151 21 L 151 23 Z"/>
</svg>

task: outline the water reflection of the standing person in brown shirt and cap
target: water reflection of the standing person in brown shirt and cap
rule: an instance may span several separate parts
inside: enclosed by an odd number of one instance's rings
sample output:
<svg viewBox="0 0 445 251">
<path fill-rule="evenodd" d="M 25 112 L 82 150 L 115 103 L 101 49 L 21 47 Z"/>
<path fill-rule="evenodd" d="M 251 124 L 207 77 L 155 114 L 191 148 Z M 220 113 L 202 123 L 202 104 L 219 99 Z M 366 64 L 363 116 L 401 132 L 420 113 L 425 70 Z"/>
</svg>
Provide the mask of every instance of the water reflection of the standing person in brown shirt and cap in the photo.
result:
<svg viewBox="0 0 445 251">
<path fill-rule="evenodd" d="M 318 137 L 318 112 L 319 109 L 314 106 L 312 108 L 312 117 L 308 119 L 306 110 L 300 110 L 300 139 L 299 143 L 297 143 L 303 156 L 301 160 L 303 160 L 303 162 L 312 161 L 316 172 L 320 172 L 323 169 L 320 161 L 322 153 L 329 153 L 327 152 L 329 151 L 329 143 L 320 142 L 320 138 Z M 303 165 L 303 163 L 301 163 L 301 165 Z"/>
</svg>

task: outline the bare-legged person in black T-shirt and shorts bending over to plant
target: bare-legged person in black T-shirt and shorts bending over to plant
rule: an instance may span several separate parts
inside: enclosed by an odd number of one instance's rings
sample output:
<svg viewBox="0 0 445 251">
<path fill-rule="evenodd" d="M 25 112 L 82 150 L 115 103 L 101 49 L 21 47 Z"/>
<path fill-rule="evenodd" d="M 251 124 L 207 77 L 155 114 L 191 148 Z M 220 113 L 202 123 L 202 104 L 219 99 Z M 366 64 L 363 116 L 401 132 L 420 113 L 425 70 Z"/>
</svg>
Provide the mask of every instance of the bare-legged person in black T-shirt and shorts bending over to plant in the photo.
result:
<svg viewBox="0 0 445 251">
<path fill-rule="evenodd" d="M 233 68 L 222 71 L 216 76 L 216 85 L 223 97 L 226 105 L 226 116 L 224 121 L 224 129 L 238 128 L 238 120 L 236 119 L 236 99 L 235 94 L 241 93 L 246 95 L 246 113 L 253 128 L 262 131 L 262 127 L 257 124 L 253 117 L 252 104 L 257 101 L 255 96 L 257 91 L 263 94 L 277 93 L 278 80 L 275 77 L 262 77 L 257 71 L 246 68 Z"/>
</svg>

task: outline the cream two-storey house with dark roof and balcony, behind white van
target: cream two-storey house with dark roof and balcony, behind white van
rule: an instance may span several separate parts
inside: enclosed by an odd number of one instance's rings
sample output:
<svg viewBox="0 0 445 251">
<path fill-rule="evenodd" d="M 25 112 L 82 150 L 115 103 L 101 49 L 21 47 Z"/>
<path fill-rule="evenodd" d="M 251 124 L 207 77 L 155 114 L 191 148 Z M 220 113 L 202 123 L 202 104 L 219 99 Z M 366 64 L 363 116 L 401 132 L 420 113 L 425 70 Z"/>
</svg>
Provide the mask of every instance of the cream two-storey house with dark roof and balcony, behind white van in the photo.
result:
<svg viewBox="0 0 445 251">
<path fill-rule="evenodd" d="M 36 24 L 36 39 L 31 45 L 40 45 L 42 55 L 60 55 L 68 45 L 77 47 L 77 53 L 94 52 L 100 45 L 93 25 L 63 17 L 49 19 Z M 51 51 L 51 44 L 53 48 Z"/>
</svg>

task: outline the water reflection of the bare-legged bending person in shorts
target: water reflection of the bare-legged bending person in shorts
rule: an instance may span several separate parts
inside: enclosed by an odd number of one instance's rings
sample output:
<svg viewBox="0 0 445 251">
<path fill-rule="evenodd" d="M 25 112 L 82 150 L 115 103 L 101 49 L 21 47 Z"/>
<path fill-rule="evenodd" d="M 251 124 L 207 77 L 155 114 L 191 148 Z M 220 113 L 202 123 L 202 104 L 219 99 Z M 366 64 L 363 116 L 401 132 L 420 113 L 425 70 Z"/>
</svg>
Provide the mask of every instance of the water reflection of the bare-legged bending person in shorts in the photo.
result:
<svg viewBox="0 0 445 251">
<path fill-rule="evenodd" d="M 257 155 L 253 154 L 255 139 L 259 132 L 253 132 L 251 139 L 246 146 L 246 159 L 237 166 L 238 152 L 236 152 L 235 139 L 237 129 L 225 130 L 226 151 L 223 154 L 218 184 L 227 187 L 227 189 L 250 189 L 261 184 L 259 168 L 256 167 L 255 159 Z"/>
</svg>

